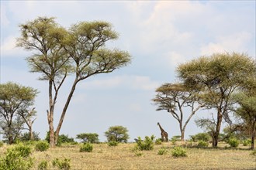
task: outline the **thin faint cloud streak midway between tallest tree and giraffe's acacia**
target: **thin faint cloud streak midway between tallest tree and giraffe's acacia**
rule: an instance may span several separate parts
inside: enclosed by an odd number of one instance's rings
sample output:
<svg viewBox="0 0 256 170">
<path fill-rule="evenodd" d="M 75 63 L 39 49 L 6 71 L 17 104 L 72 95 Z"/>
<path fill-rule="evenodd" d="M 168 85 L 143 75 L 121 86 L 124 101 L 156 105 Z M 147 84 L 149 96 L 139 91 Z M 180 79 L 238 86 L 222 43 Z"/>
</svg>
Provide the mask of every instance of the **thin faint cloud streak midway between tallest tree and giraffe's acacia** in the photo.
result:
<svg viewBox="0 0 256 170">
<path fill-rule="evenodd" d="M 118 87 L 133 90 L 155 90 L 158 85 L 159 83 L 150 80 L 149 76 L 112 76 L 81 83 L 80 86 L 85 90 L 105 90 Z"/>
</svg>

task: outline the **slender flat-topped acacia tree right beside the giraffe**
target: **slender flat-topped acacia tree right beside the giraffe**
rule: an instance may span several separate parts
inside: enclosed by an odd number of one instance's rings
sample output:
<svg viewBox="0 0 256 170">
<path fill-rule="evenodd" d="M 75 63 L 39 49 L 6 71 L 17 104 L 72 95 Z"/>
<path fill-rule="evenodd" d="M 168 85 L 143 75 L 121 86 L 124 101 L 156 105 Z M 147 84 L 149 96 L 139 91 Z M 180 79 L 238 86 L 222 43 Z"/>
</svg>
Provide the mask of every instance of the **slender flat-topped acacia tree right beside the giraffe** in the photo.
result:
<svg viewBox="0 0 256 170">
<path fill-rule="evenodd" d="M 164 83 L 157 88 L 156 92 L 157 95 L 153 101 L 158 106 L 157 110 L 167 110 L 178 121 L 182 134 L 181 140 L 184 141 L 187 124 L 195 112 L 203 107 L 203 104 L 199 104 L 197 102 L 199 100 L 195 100 L 196 92 L 187 89 L 182 83 Z M 184 107 L 191 108 L 191 113 L 185 122 Z"/>
</svg>

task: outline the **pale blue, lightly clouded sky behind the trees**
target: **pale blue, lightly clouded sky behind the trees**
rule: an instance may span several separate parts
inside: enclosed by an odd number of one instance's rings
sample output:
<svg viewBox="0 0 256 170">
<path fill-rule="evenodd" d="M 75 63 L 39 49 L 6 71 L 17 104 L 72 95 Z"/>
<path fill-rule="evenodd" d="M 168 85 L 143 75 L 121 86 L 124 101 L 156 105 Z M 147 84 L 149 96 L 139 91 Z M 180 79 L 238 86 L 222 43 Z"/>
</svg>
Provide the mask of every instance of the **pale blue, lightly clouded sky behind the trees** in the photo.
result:
<svg viewBox="0 0 256 170">
<path fill-rule="evenodd" d="M 160 122 L 169 138 L 179 135 L 178 122 L 167 111 L 156 111 L 152 98 L 163 83 L 178 81 L 177 66 L 213 53 L 247 53 L 256 59 L 255 1 L 2 1 L 0 83 L 12 81 L 40 91 L 33 130 L 45 138 L 48 131 L 47 82 L 30 73 L 25 58 L 31 51 L 16 47 L 19 25 L 39 16 L 56 17 L 65 28 L 81 21 L 112 23 L 119 39 L 109 48 L 125 50 L 130 65 L 113 73 L 89 77 L 78 84 L 61 128 L 61 134 L 76 138 L 81 133 L 104 132 L 110 126 L 126 127 L 130 140 L 154 134 L 160 138 Z M 71 88 L 68 77 L 60 91 L 54 127 Z M 189 110 L 185 116 L 189 115 Z M 195 119 L 189 122 L 185 138 L 202 132 Z M 1 137 L 1 136 L 0 136 Z"/>
</svg>

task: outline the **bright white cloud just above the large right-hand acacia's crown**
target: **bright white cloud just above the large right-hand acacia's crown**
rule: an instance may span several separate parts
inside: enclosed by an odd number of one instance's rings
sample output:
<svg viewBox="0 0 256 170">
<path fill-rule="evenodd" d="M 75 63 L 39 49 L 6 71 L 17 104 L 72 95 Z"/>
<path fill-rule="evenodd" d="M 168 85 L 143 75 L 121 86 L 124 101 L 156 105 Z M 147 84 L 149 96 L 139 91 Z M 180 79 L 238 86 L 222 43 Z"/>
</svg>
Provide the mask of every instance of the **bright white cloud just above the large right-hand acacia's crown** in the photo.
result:
<svg viewBox="0 0 256 170">
<path fill-rule="evenodd" d="M 253 38 L 249 32 L 218 37 L 216 42 L 209 42 L 201 47 L 201 55 L 223 52 L 247 52 L 247 44 Z"/>
</svg>

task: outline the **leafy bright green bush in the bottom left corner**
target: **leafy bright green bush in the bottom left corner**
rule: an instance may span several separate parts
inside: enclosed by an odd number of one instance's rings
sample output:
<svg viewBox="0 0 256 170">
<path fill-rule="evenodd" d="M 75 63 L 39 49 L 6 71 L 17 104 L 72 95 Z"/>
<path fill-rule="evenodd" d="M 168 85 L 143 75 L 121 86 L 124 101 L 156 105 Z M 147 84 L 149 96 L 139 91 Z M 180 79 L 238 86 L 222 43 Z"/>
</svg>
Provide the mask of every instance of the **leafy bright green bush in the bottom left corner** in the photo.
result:
<svg viewBox="0 0 256 170">
<path fill-rule="evenodd" d="M 16 145 L 8 148 L 3 157 L 0 158 L 1 170 L 27 170 L 33 167 L 33 158 L 30 158 L 31 148 L 26 145 Z"/>
</svg>

